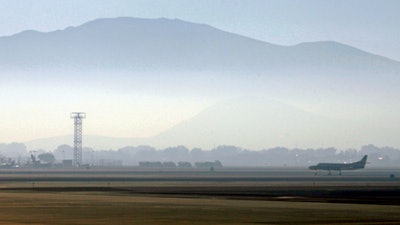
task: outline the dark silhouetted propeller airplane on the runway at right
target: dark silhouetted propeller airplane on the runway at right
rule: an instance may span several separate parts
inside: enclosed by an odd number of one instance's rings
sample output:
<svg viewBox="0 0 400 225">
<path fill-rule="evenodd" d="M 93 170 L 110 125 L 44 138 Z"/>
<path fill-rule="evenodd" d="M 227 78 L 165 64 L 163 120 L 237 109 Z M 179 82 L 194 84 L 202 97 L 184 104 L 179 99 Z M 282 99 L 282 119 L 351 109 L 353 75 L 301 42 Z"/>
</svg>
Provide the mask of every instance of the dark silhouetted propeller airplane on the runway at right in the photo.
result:
<svg viewBox="0 0 400 225">
<path fill-rule="evenodd" d="M 328 170 L 331 175 L 331 170 L 339 171 L 339 175 L 342 175 L 342 170 L 357 170 L 364 169 L 367 163 L 367 155 L 354 163 L 318 163 L 317 165 L 310 166 L 308 169 L 316 170 L 314 175 L 317 175 L 318 170 Z"/>
</svg>

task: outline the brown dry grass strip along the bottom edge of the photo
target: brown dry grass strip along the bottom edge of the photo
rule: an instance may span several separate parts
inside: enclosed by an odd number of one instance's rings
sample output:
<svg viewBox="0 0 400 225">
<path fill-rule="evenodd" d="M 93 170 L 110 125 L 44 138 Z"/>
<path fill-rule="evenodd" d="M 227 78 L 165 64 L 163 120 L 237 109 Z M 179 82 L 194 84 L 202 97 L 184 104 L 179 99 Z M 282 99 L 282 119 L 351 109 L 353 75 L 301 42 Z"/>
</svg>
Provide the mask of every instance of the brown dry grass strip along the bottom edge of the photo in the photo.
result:
<svg viewBox="0 0 400 225">
<path fill-rule="evenodd" d="M 0 224 L 400 224 L 400 206 L 0 192 Z"/>
</svg>

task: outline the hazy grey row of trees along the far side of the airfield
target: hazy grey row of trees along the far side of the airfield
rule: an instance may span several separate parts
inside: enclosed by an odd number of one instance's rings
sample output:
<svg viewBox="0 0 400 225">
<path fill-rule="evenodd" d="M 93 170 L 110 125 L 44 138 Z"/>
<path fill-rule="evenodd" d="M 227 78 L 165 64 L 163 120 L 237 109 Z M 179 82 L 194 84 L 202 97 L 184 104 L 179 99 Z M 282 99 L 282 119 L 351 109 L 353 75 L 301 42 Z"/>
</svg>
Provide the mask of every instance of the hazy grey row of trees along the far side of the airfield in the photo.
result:
<svg viewBox="0 0 400 225">
<path fill-rule="evenodd" d="M 27 150 L 22 143 L 0 144 L 0 162 L 10 160 L 26 163 L 35 156 L 37 160 L 60 163 L 70 160 L 73 147 L 60 145 L 53 151 L 41 149 Z M 52 157 L 53 155 L 54 157 Z M 201 148 L 189 149 L 185 146 L 174 146 L 156 149 L 151 146 L 127 146 L 117 150 L 97 150 L 83 148 L 83 163 L 88 165 L 105 165 L 104 162 L 121 162 L 122 166 L 138 166 L 140 162 L 215 162 L 224 166 L 308 166 L 319 162 L 355 162 L 363 155 L 368 155 L 370 166 L 400 165 L 400 149 L 365 145 L 360 149 L 338 150 L 336 148 L 289 149 L 285 147 L 249 150 L 237 146 L 221 145 L 210 150 Z"/>
</svg>

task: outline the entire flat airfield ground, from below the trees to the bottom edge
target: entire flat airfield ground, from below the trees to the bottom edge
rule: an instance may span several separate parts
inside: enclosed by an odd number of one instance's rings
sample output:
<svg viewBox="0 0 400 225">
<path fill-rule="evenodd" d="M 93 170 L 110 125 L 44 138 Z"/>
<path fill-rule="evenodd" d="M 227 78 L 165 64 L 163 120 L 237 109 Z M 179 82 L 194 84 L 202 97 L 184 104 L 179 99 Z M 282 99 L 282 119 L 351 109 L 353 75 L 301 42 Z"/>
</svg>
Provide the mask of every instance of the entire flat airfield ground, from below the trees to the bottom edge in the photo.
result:
<svg viewBox="0 0 400 225">
<path fill-rule="evenodd" d="M 379 171 L 2 171 L 0 224 L 400 224 L 399 184 Z"/>
</svg>

